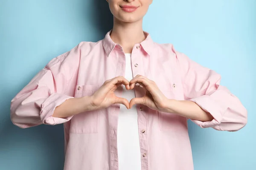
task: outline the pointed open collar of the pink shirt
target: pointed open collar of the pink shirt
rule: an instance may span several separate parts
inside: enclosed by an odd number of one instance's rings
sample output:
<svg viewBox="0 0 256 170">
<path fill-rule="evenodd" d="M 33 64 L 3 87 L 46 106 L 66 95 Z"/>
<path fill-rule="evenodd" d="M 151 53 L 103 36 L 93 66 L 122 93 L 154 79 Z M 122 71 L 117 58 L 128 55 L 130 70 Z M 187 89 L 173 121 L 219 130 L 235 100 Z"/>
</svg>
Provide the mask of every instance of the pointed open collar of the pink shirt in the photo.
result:
<svg viewBox="0 0 256 170">
<path fill-rule="evenodd" d="M 116 47 L 115 42 L 113 42 L 113 40 L 110 37 L 110 33 L 112 30 L 108 31 L 108 33 L 105 35 L 105 38 L 102 40 L 102 44 L 103 44 L 103 48 L 105 50 L 105 52 L 107 53 L 107 55 L 109 56 L 109 54 L 113 51 L 113 49 Z M 143 42 L 140 42 L 140 45 L 142 46 L 143 50 L 150 55 L 151 51 L 153 50 L 154 47 L 154 41 L 151 39 L 151 36 L 148 32 L 143 31 L 145 34 L 145 40 L 143 40 Z"/>
</svg>

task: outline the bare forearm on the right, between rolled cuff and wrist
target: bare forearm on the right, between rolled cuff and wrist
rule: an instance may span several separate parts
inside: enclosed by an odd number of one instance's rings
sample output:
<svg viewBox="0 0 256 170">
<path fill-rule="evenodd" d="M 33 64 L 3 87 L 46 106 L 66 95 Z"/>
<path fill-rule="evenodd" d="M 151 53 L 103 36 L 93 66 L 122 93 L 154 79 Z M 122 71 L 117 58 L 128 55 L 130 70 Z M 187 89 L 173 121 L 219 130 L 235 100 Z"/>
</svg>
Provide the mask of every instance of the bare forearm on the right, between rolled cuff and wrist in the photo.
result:
<svg viewBox="0 0 256 170">
<path fill-rule="evenodd" d="M 202 122 L 211 121 L 213 119 L 210 113 L 204 111 L 195 102 L 188 100 L 169 99 L 168 102 L 166 102 L 165 112 L 175 113 L 188 119 L 200 120 Z"/>
</svg>

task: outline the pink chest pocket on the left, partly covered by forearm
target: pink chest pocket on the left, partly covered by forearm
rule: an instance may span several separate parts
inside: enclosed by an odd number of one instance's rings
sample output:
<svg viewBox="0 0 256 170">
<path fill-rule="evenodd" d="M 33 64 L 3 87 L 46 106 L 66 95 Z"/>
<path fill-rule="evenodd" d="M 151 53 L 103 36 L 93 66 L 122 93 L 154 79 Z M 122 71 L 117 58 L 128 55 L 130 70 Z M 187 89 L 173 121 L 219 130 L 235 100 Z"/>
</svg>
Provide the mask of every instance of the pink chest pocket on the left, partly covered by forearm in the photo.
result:
<svg viewBox="0 0 256 170">
<path fill-rule="evenodd" d="M 96 85 L 77 85 L 75 97 L 91 96 L 97 90 Z M 70 133 L 98 133 L 98 110 L 85 111 L 73 116 Z"/>
</svg>

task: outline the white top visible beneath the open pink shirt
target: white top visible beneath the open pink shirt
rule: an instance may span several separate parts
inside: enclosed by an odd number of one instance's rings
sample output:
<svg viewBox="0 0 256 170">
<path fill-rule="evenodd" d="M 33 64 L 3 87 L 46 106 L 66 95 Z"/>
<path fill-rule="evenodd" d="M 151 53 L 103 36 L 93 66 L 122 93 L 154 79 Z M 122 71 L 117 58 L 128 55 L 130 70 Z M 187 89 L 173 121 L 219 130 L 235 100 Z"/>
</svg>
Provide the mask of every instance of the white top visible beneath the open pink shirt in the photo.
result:
<svg viewBox="0 0 256 170">
<path fill-rule="evenodd" d="M 129 81 L 133 79 L 131 69 L 131 54 L 125 54 L 125 78 Z M 128 102 L 135 97 L 135 91 L 126 90 L 123 86 L 122 97 Z M 140 142 L 136 105 L 127 109 L 125 105 L 120 105 L 120 112 L 117 127 L 117 149 L 119 170 L 141 170 L 140 162 Z"/>
</svg>

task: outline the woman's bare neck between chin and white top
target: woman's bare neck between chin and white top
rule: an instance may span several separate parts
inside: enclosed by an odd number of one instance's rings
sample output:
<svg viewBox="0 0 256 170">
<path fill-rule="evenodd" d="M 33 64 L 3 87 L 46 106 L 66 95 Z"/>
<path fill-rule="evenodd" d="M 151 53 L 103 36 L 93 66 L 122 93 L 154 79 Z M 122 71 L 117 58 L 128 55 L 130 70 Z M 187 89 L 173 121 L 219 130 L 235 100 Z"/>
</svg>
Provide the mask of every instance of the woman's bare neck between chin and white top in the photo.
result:
<svg viewBox="0 0 256 170">
<path fill-rule="evenodd" d="M 110 37 L 113 42 L 122 46 L 125 53 L 131 53 L 135 44 L 145 40 L 142 20 L 134 23 L 125 23 L 114 18 Z"/>
</svg>

